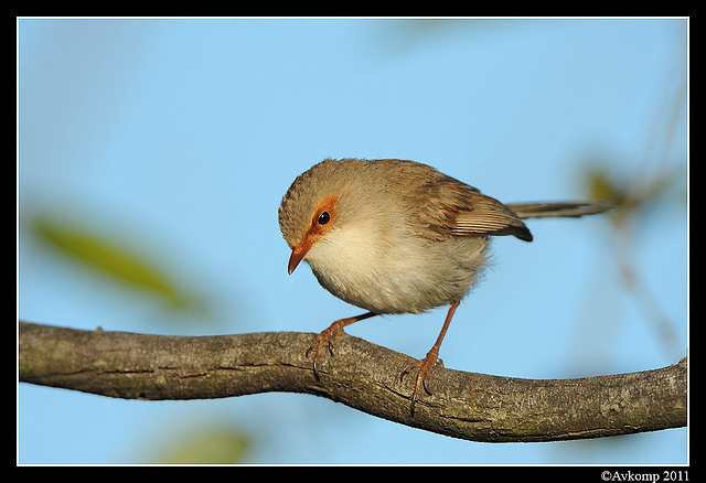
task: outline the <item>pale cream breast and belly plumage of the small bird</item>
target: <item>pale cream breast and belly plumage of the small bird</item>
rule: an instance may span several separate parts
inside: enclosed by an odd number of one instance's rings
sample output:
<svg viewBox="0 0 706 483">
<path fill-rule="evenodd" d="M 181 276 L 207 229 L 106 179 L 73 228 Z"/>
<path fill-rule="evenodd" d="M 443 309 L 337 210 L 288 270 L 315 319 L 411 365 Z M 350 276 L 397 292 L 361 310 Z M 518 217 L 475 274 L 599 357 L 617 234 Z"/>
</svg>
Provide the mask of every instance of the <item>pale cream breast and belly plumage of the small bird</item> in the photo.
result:
<svg viewBox="0 0 706 483">
<path fill-rule="evenodd" d="M 427 240 L 372 223 L 331 229 L 307 254 L 319 282 L 375 313 L 415 313 L 460 300 L 485 264 L 485 238 Z"/>
</svg>

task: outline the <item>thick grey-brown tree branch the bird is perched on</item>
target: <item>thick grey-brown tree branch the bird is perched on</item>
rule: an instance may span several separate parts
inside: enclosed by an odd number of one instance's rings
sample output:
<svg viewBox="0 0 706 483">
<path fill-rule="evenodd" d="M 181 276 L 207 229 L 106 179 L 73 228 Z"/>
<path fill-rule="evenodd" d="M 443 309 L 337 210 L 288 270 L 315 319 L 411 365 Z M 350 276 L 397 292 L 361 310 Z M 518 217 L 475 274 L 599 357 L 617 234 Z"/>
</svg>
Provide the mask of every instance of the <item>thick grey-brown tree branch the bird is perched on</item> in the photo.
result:
<svg viewBox="0 0 706 483">
<path fill-rule="evenodd" d="M 165 336 L 20 322 L 20 380 L 126 399 L 307 393 L 456 438 L 556 441 L 686 426 L 687 362 L 578 379 L 518 379 L 438 365 L 410 411 L 411 358 L 339 336 L 314 377 L 313 334 Z"/>
</svg>

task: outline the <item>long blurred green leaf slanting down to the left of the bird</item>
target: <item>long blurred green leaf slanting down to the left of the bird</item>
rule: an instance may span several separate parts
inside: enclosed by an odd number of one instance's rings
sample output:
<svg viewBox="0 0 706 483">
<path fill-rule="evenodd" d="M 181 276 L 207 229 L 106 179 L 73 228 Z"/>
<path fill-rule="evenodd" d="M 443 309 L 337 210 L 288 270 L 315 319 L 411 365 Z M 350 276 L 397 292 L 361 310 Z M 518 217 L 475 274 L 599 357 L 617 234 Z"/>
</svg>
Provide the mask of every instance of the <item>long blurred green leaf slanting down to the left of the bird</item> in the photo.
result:
<svg viewBox="0 0 706 483">
<path fill-rule="evenodd" d="M 138 255 L 105 235 L 42 215 L 31 221 L 30 228 L 38 239 L 73 261 L 161 299 L 173 309 L 186 310 L 195 304 L 196 299 L 150 262 L 149 256 Z"/>
</svg>

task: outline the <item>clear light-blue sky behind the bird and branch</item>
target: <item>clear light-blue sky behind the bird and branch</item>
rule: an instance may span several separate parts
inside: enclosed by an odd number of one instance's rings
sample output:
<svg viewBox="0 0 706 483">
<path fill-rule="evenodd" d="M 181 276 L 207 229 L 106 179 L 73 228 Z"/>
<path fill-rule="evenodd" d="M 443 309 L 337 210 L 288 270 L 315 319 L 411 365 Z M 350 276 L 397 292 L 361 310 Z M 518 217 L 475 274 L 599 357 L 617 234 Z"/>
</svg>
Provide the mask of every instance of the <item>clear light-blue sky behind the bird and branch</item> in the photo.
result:
<svg viewBox="0 0 706 483">
<path fill-rule="evenodd" d="M 683 19 L 20 19 L 18 314 L 77 329 L 319 332 L 359 309 L 287 275 L 277 207 L 331 158 L 425 162 L 504 202 L 586 196 L 589 161 L 624 180 L 675 172 L 629 253 L 668 321 L 665 346 L 624 289 L 608 219 L 531 221 L 457 311 L 447 367 L 533 378 L 643 371 L 687 347 L 687 68 Z M 665 135 L 665 132 L 670 132 Z M 69 213 L 140 247 L 208 300 L 173 322 L 54 257 L 23 216 Z M 654 311 L 652 311 L 654 313 Z M 421 357 L 445 309 L 347 332 Z M 188 319 L 188 318 L 186 318 Z M 196 428 L 249 434 L 253 463 L 684 463 L 687 430 L 482 444 L 313 396 L 124 401 L 20 384 L 21 463 L 141 462 Z"/>
</svg>

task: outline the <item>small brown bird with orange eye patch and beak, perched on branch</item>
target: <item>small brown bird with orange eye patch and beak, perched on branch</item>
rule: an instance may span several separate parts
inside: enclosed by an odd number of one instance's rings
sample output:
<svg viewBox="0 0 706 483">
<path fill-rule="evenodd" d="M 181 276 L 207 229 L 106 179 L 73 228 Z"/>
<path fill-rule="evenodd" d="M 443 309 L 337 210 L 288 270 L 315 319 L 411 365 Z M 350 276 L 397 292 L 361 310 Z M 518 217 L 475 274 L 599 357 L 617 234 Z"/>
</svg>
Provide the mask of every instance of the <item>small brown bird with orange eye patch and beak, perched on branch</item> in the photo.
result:
<svg viewBox="0 0 706 483">
<path fill-rule="evenodd" d="M 532 242 L 522 218 L 601 213 L 605 203 L 504 205 L 436 169 L 396 159 L 324 160 L 299 175 L 279 207 L 279 227 L 291 248 L 288 270 L 307 261 L 319 283 L 366 310 L 321 332 L 324 344 L 343 328 L 381 314 L 449 311 L 439 337 L 418 368 L 411 404 L 437 363 L 453 312 L 488 264 L 490 236 Z"/>
</svg>

